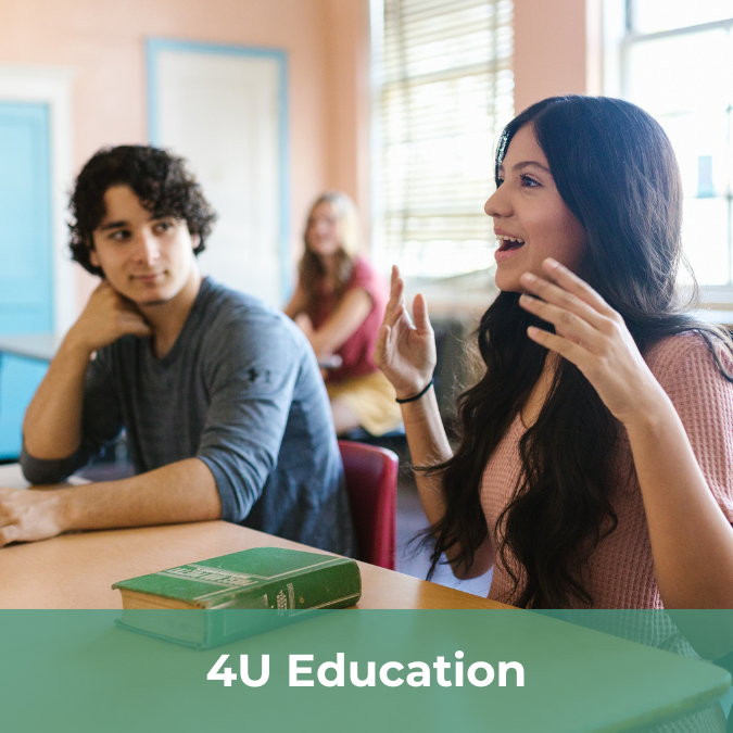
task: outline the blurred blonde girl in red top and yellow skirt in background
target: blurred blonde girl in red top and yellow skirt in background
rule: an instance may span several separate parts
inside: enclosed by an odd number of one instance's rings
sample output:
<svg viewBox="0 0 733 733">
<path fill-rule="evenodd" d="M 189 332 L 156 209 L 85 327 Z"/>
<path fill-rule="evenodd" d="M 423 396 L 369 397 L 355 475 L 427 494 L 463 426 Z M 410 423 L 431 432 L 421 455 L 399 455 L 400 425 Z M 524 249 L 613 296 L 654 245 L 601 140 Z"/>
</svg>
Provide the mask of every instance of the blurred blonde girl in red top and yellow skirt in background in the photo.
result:
<svg viewBox="0 0 733 733">
<path fill-rule="evenodd" d="M 389 298 L 387 282 L 358 254 L 352 200 L 326 191 L 308 213 L 305 253 L 286 308 L 305 333 L 323 370 L 338 434 L 362 427 L 383 435 L 402 421 L 394 388 L 371 358 Z"/>
</svg>

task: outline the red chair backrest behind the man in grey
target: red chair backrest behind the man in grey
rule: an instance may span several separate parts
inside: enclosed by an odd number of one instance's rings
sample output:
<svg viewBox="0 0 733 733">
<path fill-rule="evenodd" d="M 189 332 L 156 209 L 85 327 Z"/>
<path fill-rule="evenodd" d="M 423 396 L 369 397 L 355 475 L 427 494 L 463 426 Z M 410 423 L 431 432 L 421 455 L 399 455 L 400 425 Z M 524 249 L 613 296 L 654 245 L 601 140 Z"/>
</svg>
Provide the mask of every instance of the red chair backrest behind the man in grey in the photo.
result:
<svg viewBox="0 0 733 733">
<path fill-rule="evenodd" d="M 395 453 L 339 441 L 359 559 L 394 570 L 397 467 Z"/>
</svg>

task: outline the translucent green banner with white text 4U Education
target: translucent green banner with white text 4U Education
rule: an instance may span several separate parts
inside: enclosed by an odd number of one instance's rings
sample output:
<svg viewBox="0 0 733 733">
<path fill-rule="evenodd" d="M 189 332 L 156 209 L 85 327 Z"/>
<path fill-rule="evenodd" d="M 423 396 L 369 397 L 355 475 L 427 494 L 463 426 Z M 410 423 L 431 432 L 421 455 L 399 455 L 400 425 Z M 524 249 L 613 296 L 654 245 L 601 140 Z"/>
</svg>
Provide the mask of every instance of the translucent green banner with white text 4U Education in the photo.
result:
<svg viewBox="0 0 733 733">
<path fill-rule="evenodd" d="M 0 728 L 725 730 L 731 675 L 695 648 L 729 655 L 733 611 L 127 612 L 144 633 L 119 618 L 0 611 Z"/>
</svg>

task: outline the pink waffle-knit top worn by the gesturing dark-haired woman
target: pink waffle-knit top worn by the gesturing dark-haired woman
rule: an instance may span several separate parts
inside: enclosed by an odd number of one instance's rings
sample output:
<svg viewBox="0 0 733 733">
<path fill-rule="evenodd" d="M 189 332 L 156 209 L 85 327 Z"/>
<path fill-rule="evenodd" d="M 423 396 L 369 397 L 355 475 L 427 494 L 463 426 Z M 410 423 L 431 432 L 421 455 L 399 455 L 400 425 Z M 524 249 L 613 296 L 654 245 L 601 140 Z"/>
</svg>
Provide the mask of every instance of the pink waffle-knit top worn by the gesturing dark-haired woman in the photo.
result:
<svg viewBox="0 0 733 733">
<path fill-rule="evenodd" d="M 733 384 L 720 375 L 703 338 L 694 332 L 664 339 L 649 351 L 646 362 L 682 419 L 712 495 L 733 522 Z M 733 370 L 728 356 L 724 364 Z M 521 472 L 523 432 L 517 415 L 483 475 L 481 505 L 494 546 L 496 520 Z M 585 586 L 597 608 L 661 608 L 641 489 L 625 433 L 623 438 L 614 462 L 611 493 L 619 523 L 591 556 L 583 572 Z M 489 597 L 513 603 L 513 585 L 497 557 Z"/>
</svg>

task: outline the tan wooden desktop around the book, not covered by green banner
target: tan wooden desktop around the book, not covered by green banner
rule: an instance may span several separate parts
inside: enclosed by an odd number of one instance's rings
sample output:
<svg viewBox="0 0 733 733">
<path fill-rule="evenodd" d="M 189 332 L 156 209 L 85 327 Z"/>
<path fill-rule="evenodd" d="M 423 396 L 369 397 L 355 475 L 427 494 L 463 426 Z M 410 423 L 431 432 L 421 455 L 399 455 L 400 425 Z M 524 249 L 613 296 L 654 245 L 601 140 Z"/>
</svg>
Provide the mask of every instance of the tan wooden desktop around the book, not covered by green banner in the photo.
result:
<svg viewBox="0 0 733 733">
<path fill-rule="evenodd" d="M 0 486 L 27 486 L 16 464 Z M 312 547 L 225 521 L 77 532 L 0 548 L 0 608 L 122 608 L 112 583 L 250 547 Z M 503 604 L 359 563 L 358 608 L 506 608 Z"/>
</svg>

